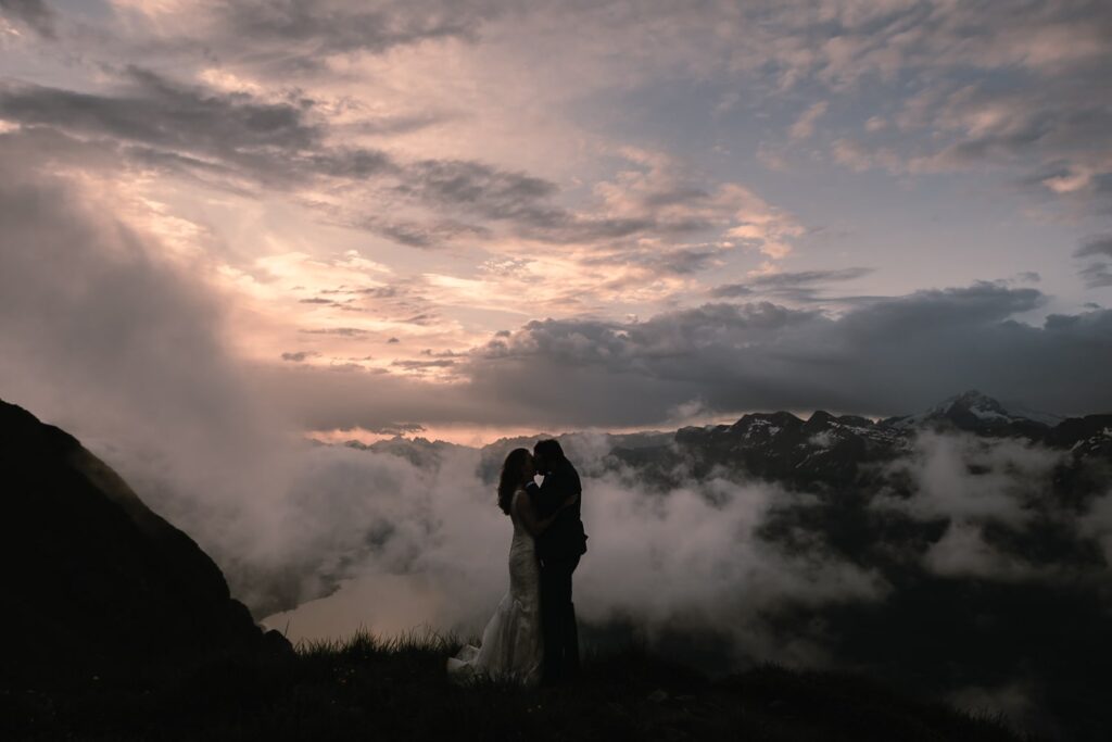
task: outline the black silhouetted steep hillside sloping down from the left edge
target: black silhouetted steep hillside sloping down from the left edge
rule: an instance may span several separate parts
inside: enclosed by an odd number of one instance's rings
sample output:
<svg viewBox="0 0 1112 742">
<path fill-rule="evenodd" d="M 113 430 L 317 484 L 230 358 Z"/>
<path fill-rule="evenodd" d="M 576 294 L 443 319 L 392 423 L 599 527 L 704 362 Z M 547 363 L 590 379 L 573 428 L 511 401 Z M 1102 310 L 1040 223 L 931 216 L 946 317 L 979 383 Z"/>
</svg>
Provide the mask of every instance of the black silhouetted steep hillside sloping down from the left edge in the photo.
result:
<svg viewBox="0 0 1112 742">
<path fill-rule="evenodd" d="M 6 684 L 290 651 L 231 598 L 212 560 L 111 468 L 2 400 L 0 550 Z"/>
</svg>

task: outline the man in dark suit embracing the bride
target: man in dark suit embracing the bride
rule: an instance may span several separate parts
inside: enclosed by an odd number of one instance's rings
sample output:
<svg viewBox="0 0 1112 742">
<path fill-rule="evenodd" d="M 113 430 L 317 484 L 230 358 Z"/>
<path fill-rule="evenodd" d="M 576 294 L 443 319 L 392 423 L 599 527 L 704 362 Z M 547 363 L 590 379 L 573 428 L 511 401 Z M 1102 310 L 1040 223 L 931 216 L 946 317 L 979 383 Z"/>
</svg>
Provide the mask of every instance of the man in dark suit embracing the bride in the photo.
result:
<svg viewBox="0 0 1112 742">
<path fill-rule="evenodd" d="M 528 486 L 537 514 L 548 517 L 570 495 L 579 494 L 575 505 L 565 507 L 537 538 L 540 561 L 540 631 L 545 642 L 542 682 L 555 684 L 579 674 L 579 630 L 572 603 L 572 573 L 587 551 L 580 505 L 583 487 L 579 474 L 564 456 L 557 441 L 540 441 L 533 447 L 537 473 L 545 479 L 538 487 Z"/>
</svg>

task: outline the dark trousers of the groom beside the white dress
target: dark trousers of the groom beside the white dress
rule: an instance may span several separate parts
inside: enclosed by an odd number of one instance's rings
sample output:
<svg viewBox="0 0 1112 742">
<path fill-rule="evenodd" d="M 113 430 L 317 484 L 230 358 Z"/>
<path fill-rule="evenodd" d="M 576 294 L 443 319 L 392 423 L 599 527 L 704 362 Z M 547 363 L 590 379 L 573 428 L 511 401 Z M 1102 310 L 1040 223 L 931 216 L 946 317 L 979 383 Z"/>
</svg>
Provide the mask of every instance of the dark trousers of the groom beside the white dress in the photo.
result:
<svg viewBox="0 0 1112 742">
<path fill-rule="evenodd" d="M 546 683 L 573 680 L 579 674 L 579 629 L 572 603 L 572 573 L 578 565 L 578 556 L 542 563 L 540 629 L 545 640 Z"/>
</svg>

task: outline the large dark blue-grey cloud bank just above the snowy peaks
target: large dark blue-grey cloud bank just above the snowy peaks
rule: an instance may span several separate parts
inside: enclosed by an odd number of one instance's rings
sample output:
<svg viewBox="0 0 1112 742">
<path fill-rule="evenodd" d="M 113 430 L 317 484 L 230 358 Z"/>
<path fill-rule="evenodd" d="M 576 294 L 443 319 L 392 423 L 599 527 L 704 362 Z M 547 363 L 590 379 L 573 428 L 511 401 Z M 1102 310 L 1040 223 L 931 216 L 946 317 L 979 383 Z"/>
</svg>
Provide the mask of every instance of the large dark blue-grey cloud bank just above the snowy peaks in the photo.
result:
<svg viewBox="0 0 1112 742">
<path fill-rule="evenodd" d="M 721 410 L 896 414 L 971 386 L 1065 414 L 1112 408 L 1102 370 L 1112 364 L 1112 311 L 1052 315 L 1042 327 L 1010 319 L 1044 300 L 976 284 L 837 318 L 755 303 L 635 324 L 535 321 L 494 338 L 461 370 L 503 403 L 519 389 L 545 419 L 569 424 L 600 422 L 604 409 L 609 424 L 651 424 L 696 398 Z"/>
</svg>

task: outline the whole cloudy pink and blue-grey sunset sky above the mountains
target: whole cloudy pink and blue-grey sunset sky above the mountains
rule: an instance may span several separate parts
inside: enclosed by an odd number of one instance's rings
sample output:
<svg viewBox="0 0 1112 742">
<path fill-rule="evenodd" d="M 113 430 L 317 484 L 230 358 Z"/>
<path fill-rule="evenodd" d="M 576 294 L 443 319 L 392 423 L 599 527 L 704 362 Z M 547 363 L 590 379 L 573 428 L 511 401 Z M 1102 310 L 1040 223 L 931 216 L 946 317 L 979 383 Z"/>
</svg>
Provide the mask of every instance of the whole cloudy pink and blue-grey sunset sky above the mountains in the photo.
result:
<svg viewBox="0 0 1112 742">
<path fill-rule="evenodd" d="M 0 395 L 469 443 L 1112 409 L 1110 41 L 1101 1 L 0 0 Z"/>
</svg>

